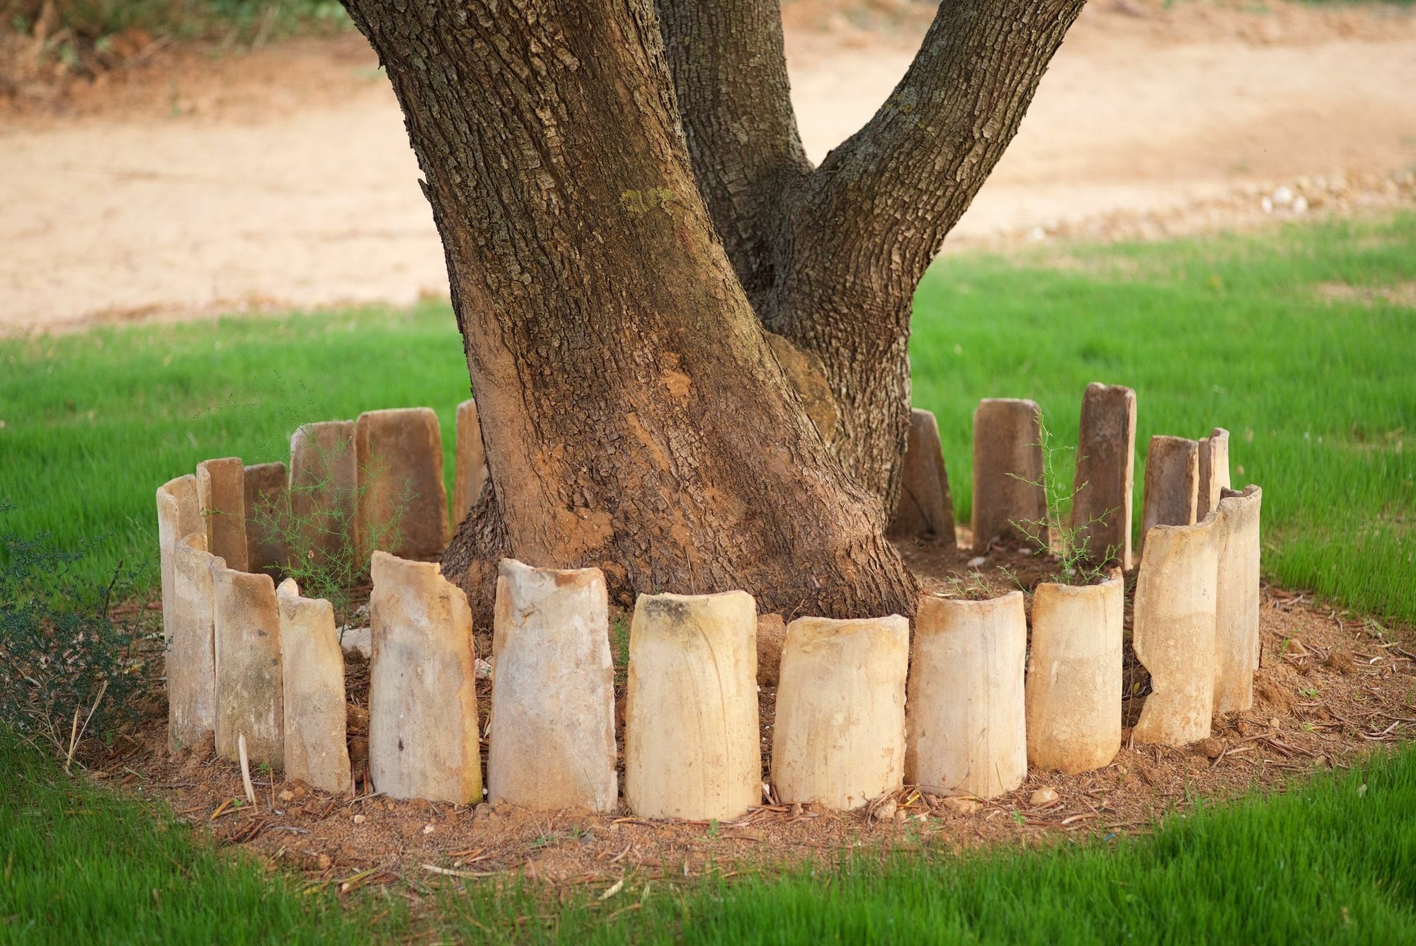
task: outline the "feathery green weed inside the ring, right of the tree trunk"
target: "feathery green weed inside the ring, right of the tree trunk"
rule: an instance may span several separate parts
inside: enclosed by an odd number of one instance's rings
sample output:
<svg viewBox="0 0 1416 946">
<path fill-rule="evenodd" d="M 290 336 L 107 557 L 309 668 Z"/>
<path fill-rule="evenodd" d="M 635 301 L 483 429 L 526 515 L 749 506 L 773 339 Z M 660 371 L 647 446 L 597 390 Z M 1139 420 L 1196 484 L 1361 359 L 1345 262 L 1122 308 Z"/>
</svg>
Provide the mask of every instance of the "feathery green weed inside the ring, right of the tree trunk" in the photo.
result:
<svg viewBox="0 0 1416 946">
<path fill-rule="evenodd" d="M 1029 480 L 1017 473 L 1010 473 L 1008 476 L 1042 490 L 1046 500 L 1046 510 L 1041 520 L 1010 520 L 1010 524 L 1039 554 L 1051 552 L 1056 558 L 1058 568 L 1051 575 L 1051 581 L 1062 585 L 1095 585 L 1100 582 L 1110 571 L 1119 549 L 1116 545 L 1107 545 L 1100 555 L 1093 554 L 1089 548 L 1092 527 L 1104 525 L 1107 517 L 1113 515 L 1116 510 L 1110 508 L 1086 523 L 1073 524 L 1072 506 L 1075 504 L 1076 494 L 1086 489 L 1086 483 L 1068 489 L 1058 474 L 1061 467 L 1058 455 L 1068 453 L 1075 448 L 1055 446 L 1052 443 L 1052 432 L 1042 418 L 1038 418 L 1038 440 L 1028 446 L 1042 450 L 1041 477 Z"/>
</svg>

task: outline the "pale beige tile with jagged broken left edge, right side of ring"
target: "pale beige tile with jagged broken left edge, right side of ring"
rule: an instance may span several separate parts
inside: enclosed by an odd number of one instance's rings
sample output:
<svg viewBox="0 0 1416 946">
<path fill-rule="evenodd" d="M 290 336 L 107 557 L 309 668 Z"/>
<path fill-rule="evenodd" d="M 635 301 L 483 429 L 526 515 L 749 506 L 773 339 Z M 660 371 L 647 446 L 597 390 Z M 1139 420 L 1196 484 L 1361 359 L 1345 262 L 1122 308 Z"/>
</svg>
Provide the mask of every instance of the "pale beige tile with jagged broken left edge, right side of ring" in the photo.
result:
<svg viewBox="0 0 1416 946">
<path fill-rule="evenodd" d="M 1137 742 L 1188 745 L 1209 735 L 1215 697 L 1219 521 L 1157 525 L 1146 538 L 1131 642 L 1151 676 Z"/>
</svg>

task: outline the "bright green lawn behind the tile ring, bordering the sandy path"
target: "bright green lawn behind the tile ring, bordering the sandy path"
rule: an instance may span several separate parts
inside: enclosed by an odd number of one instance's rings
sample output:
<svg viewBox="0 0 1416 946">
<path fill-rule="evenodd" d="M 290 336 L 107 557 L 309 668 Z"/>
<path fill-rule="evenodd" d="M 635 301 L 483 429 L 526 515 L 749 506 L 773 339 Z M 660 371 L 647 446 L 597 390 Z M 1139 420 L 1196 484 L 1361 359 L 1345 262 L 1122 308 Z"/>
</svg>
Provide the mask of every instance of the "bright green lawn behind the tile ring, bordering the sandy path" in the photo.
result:
<svg viewBox="0 0 1416 946">
<path fill-rule="evenodd" d="M 1416 622 L 1416 310 L 1317 289 L 1416 280 L 1416 215 L 1083 246 L 1066 262 L 946 258 L 919 289 L 915 404 L 939 418 L 960 520 L 978 398 L 1035 398 L 1075 443 L 1086 384 L 1127 384 L 1137 521 L 1148 438 L 1225 426 L 1235 481 L 1264 489 L 1264 572 Z M 153 490 L 169 477 L 211 456 L 285 459 L 300 421 L 428 405 L 450 480 L 464 397 L 443 304 L 0 341 L 7 531 L 109 534 L 96 574 L 122 558 L 152 576 Z"/>
</svg>

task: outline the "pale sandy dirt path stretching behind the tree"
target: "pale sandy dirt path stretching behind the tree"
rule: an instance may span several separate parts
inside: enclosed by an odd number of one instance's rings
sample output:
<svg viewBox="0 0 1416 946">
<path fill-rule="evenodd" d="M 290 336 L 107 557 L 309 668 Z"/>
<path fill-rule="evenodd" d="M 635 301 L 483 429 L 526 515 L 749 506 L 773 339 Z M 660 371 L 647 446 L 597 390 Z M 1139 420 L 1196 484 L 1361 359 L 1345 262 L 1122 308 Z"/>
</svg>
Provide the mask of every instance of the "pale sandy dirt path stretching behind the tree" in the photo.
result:
<svg viewBox="0 0 1416 946">
<path fill-rule="evenodd" d="M 926 24 L 787 7 L 814 159 L 886 98 Z M 946 249 L 1293 215 L 1260 207 L 1279 186 L 1311 191 L 1310 208 L 1416 201 L 1413 88 L 1410 7 L 1093 0 Z M 416 178 L 357 35 L 181 52 L 62 101 L 13 101 L 0 334 L 446 295 Z"/>
</svg>

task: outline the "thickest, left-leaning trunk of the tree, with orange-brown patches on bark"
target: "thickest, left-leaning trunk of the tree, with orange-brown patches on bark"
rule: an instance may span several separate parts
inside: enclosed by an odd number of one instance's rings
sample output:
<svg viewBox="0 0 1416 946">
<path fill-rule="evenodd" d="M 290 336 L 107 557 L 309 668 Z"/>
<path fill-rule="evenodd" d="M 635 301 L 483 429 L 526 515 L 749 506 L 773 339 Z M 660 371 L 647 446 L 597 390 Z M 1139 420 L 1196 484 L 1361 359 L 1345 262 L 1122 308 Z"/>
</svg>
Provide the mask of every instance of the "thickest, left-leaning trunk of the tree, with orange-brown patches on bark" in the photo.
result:
<svg viewBox="0 0 1416 946">
<path fill-rule="evenodd" d="M 598 565 L 624 603 L 912 612 L 715 234 L 649 0 L 346 3 L 447 256 L 490 480 L 443 564 L 479 612 L 504 554 Z"/>
</svg>

